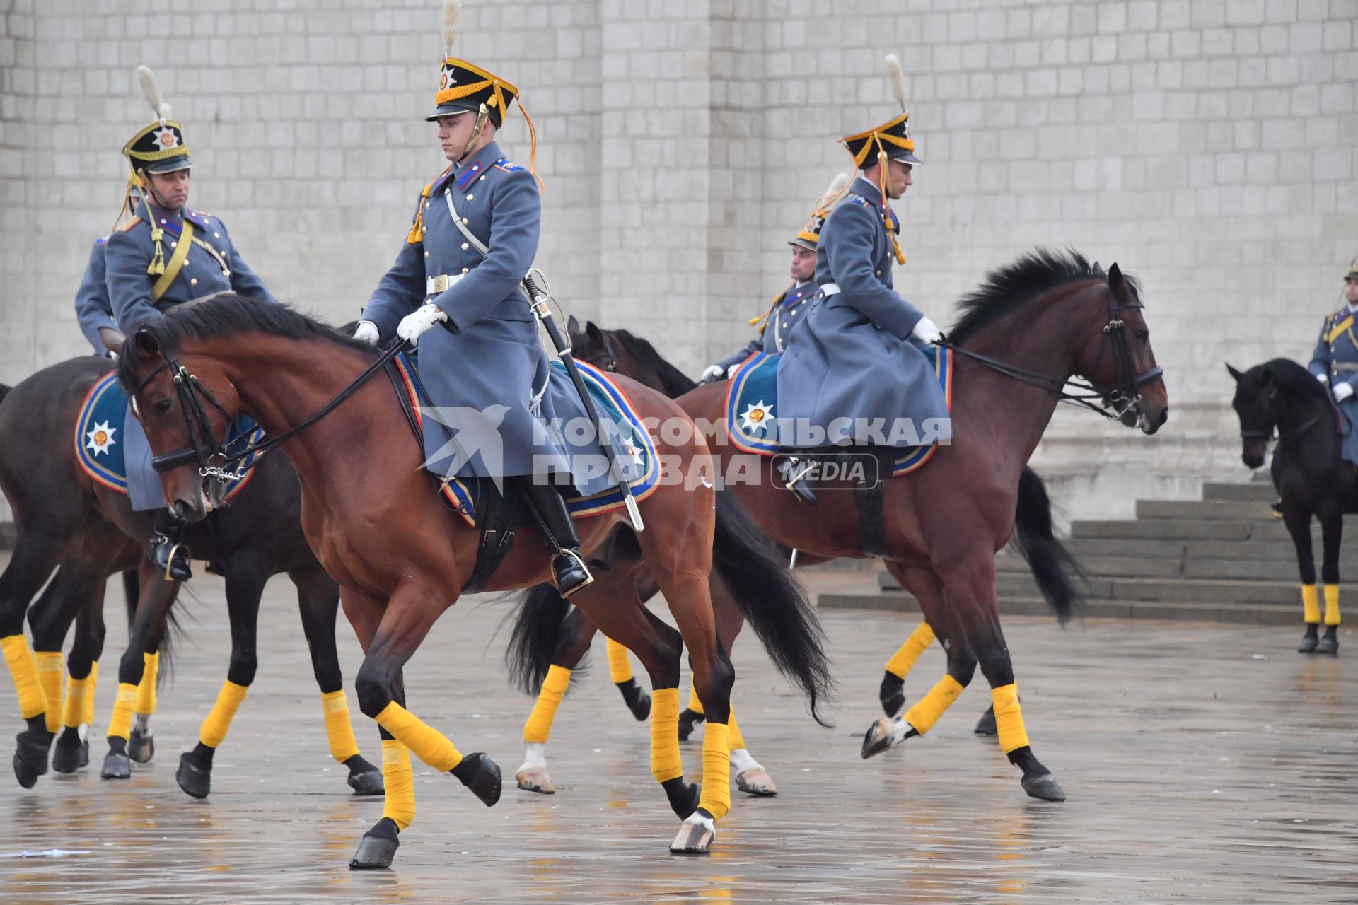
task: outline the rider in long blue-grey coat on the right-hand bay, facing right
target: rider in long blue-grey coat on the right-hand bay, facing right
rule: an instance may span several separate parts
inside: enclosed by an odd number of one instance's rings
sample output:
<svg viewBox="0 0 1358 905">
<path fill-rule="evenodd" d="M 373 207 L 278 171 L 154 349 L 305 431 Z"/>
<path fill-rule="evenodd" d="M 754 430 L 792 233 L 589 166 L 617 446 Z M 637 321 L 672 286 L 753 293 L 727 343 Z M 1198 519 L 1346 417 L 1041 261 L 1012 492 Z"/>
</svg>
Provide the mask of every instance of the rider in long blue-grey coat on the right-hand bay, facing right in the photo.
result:
<svg viewBox="0 0 1358 905">
<path fill-rule="evenodd" d="M 906 256 L 889 202 L 913 185 L 919 163 L 909 118 L 902 113 L 841 138 L 858 176 L 826 220 L 816 251 L 820 290 L 778 362 L 779 421 L 796 425 L 792 445 L 868 442 L 875 429 L 895 437 L 904 419 L 917 431 L 928 419 L 948 425 L 947 399 L 923 354 L 941 338 L 938 327 L 892 289 L 892 258 L 904 263 Z M 948 438 L 951 430 L 941 427 L 940 440 Z M 815 502 L 805 484 L 811 463 L 788 456 L 779 468 L 789 490 Z"/>
</svg>

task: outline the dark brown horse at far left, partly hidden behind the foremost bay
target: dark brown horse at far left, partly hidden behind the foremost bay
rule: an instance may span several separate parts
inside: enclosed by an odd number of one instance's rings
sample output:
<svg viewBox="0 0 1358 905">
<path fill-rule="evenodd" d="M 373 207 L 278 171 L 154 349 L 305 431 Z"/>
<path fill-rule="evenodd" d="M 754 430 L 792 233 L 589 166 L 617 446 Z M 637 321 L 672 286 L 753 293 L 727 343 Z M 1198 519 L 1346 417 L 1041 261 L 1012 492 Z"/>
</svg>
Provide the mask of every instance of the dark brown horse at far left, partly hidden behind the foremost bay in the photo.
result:
<svg viewBox="0 0 1358 905">
<path fill-rule="evenodd" d="M 118 666 L 121 692 L 100 775 L 126 779 L 130 760 L 145 763 L 155 752 L 148 718 L 156 703 L 158 651 L 163 650 L 179 585 L 164 581 L 145 556 L 151 513 L 133 512 L 126 494 L 81 469 L 71 440 L 83 400 L 110 368 L 109 361 L 94 357 L 64 361 L 22 381 L 0 403 L 0 490 L 10 499 L 18 528 L 14 556 L 0 575 L 0 638 L 7 643 L 20 716 L 27 723 L 14 757 L 15 777 L 24 788 L 46 772 L 58 731 L 53 769 L 72 772 L 88 763 L 80 727 L 90 722 L 86 711 L 92 708 L 94 665 L 103 647 L 105 583 L 120 570 L 125 575 L 129 643 Z M 231 620 L 227 681 L 204 722 L 201 741 L 181 756 L 175 775 L 179 787 L 194 798 L 209 794 L 213 753 L 254 681 L 265 582 L 284 571 L 297 588 L 331 756 L 348 768 L 346 782 L 356 794 L 383 791 L 380 771 L 359 753 L 344 700 L 334 635 L 338 588 L 311 555 L 299 512 L 300 490 L 292 469 L 284 460 L 261 463 L 232 505 L 187 537 L 196 555 L 225 574 Z M 56 577 L 30 606 L 53 569 Z M 11 658 L 10 647 L 27 647 L 26 611 L 37 653 L 20 650 Z M 62 706 L 61 647 L 72 619 L 76 639 Z M 39 685 L 34 685 L 34 673 Z"/>
</svg>

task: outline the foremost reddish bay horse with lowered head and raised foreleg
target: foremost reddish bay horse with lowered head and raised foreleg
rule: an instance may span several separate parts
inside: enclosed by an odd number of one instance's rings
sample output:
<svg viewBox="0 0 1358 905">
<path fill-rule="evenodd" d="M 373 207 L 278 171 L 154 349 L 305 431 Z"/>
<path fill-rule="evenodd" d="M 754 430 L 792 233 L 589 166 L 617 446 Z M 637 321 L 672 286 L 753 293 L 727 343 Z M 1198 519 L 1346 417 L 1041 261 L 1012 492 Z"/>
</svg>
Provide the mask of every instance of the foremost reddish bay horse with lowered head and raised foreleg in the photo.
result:
<svg viewBox="0 0 1358 905">
<path fill-rule="evenodd" d="M 359 706 L 383 734 L 386 807 L 359 845 L 352 868 L 387 867 L 401 829 L 414 818 L 410 753 L 458 777 L 485 805 L 500 799 L 500 768 L 483 753 L 462 754 L 405 707 L 402 669 L 435 620 L 473 577 L 479 532 L 452 512 L 422 468 L 424 450 L 386 381 L 368 380 L 394 357 L 345 336 L 285 305 L 219 296 L 181 305 L 137 331 L 124 347 L 118 377 L 134 400 L 156 453 L 166 499 L 189 521 L 206 514 L 205 484 L 227 467 L 220 449 L 227 423 L 244 412 L 269 434 L 262 455 L 280 449 L 301 482 L 301 526 L 364 649 L 354 685 Z M 767 583 L 741 598 L 746 617 L 774 662 L 800 687 L 811 715 L 830 691 L 823 635 L 804 593 L 739 506 L 718 502 L 709 479 L 712 455 L 674 402 L 625 377 L 615 379 L 636 412 L 668 423 L 656 450 L 667 478 L 640 501 L 645 529 L 618 509 L 579 520 L 581 550 L 596 581 L 572 601 L 641 659 L 653 700 L 652 775 L 683 824 L 671 851 L 710 851 L 716 821 L 731 805 L 725 723 L 735 670 L 718 636 L 709 582 Z M 509 590 L 550 575 L 534 526 L 485 583 Z M 713 558 L 717 543 L 728 555 Z M 736 563 L 735 566 L 732 563 Z M 678 624 L 669 628 L 636 598 L 645 567 Z M 713 583 L 721 583 L 713 582 Z M 680 643 L 708 703 L 703 783 L 683 780 L 676 738 Z"/>
</svg>

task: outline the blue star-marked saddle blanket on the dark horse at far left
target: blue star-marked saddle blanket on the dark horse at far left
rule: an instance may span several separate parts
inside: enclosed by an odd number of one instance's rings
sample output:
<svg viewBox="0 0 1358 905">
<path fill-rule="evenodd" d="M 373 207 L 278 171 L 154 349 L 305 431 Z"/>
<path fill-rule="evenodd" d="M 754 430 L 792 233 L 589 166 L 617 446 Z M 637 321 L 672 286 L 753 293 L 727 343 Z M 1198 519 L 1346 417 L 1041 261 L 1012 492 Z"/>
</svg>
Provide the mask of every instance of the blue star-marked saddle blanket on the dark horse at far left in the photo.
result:
<svg viewBox="0 0 1358 905">
<path fill-rule="evenodd" d="M 129 418 L 136 418 L 128 407 L 128 393 L 118 384 L 117 374 L 110 372 L 100 377 L 90 392 L 86 393 L 80 410 L 76 412 L 76 461 L 80 469 L 90 475 L 92 480 L 120 494 L 128 494 L 128 467 L 124 457 L 122 436 Z M 263 430 L 250 418 L 240 415 L 232 422 L 227 434 L 232 440 L 227 444 L 228 452 L 239 452 L 247 445 L 259 442 Z M 224 499 L 231 499 L 239 494 L 250 478 L 254 475 L 254 456 L 251 455 L 236 471 L 244 471 L 240 480 L 232 480 Z"/>
</svg>

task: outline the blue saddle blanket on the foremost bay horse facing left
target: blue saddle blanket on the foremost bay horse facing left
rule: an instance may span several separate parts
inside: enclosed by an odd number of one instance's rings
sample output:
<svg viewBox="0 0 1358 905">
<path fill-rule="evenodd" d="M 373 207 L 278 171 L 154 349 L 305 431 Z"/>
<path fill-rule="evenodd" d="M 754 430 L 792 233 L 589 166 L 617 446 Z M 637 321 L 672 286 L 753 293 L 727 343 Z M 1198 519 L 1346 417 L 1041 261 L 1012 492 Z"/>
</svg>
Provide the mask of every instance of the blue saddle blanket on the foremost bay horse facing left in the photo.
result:
<svg viewBox="0 0 1358 905">
<path fill-rule="evenodd" d="M 395 358 L 397 373 L 401 377 L 401 383 L 405 387 L 407 398 L 410 399 L 411 407 L 414 408 L 416 421 L 422 427 L 422 415 L 420 414 L 421 404 L 429 404 L 420 395 L 417 389 L 418 383 L 416 377 L 418 372 L 413 357 L 406 354 L 397 355 Z M 655 441 L 646 431 L 645 425 L 642 425 L 641 415 L 633 407 L 631 400 L 627 399 L 626 393 L 618 388 L 608 376 L 588 365 L 583 361 L 577 361 L 576 366 L 580 368 L 580 376 L 585 381 L 585 388 L 589 391 L 591 399 L 593 399 L 595 408 L 599 411 L 600 418 L 604 422 L 604 430 L 612 434 L 614 449 L 617 449 L 618 463 L 622 467 L 623 475 L 627 479 L 627 486 L 631 488 L 631 495 L 641 502 L 660 486 L 660 459 L 656 455 Z M 565 365 L 559 361 L 553 361 L 550 368 L 566 373 Z M 572 448 L 572 452 L 577 452 L 579 448 Z M 595 456 L 599 455 L 598 446 L 593 448 Z M 482 494 L 489 491 L 489 480 L 464 480 L 460 478 L 439 478 L 440 493 L 447 499 L 448 505 L 452 506 L 462 516 L 462 518 L 471 526 L 475 526 L 475 513 L 477 503 L 482 498 Z M 618 487 L 612 487 L 589 497 L 574 497 L 566 499 L 566 509 L 574 518 L 585 518 L 587 516 L 598 516 L 600 513 L 611 512 L 614 509 L 621 509 L 625 506 L 622 491 Z"/>
</svg>

